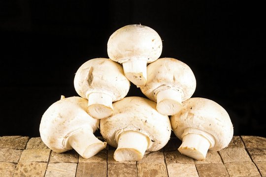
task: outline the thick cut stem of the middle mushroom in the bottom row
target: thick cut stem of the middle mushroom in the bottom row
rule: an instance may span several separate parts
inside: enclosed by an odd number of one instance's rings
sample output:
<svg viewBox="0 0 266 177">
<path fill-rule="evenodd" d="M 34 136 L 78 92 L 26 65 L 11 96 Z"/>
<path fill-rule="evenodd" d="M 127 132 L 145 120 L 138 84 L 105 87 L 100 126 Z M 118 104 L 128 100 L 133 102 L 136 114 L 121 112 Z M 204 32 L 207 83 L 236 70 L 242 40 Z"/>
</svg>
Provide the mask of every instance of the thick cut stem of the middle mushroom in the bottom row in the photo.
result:
<svg viewBox="0 0 266 177">
<path fill-rule="evenodd" d="M 118 137 L 118 147 L 114 152 L 116 161 L 141 160 L 149 145 L 149 138 L 137 131 L 124 131 Z"/>
</svg>

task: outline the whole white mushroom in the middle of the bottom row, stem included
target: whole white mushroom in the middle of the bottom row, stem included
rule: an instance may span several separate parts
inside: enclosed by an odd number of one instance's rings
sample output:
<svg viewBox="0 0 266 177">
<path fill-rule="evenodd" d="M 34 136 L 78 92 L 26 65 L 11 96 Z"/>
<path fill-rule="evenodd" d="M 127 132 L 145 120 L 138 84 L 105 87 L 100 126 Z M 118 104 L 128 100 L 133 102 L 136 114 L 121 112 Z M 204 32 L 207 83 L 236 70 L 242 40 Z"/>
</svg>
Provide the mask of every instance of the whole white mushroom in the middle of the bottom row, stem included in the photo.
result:
<svg viewBox="0 0 266 177">
<path fill-rule="evenodd" d="M 171 134 L 168 116 L 156 110 L 156 103 L 142 97 L 125 97 L 113 103 L 111 117 L 100 119 L 100 133 L 117 148 L 116 161 L 138 161 L 144 152 L 163 148 Z"/>
</svg>

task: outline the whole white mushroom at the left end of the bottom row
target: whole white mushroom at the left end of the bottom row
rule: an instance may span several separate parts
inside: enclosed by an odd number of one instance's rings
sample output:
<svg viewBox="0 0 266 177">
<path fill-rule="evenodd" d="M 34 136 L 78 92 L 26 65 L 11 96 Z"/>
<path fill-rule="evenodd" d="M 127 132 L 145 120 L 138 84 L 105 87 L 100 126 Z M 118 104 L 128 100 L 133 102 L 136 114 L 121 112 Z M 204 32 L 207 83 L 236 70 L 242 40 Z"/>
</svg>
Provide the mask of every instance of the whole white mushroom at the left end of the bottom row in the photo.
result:
<svg viewBox="0 0 266 177">
<path fill-rule="evenodd" d="M 86 108 L 88 101 L 73 96 L 53 103 L 40 121 L 40 137 L 55 152 L 75 149 L 84 158 L 90 158 L 106 147 L 95 137 L 100 120 L 90 117 Z"/>
</svg>

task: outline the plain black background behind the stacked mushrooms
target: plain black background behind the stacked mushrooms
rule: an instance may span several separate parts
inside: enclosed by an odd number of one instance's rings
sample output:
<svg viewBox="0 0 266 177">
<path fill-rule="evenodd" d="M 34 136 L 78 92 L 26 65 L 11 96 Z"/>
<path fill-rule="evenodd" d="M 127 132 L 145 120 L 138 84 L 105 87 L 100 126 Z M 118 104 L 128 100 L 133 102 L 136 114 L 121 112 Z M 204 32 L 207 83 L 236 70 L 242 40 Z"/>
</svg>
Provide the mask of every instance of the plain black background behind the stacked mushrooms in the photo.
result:
<svg viewBox="0 0 266 177">
<path fill-rule="evenodd" d="M 188 64 L 193 97 L 229 113 L 234 135 L 266 137 L 263 6 L 236 0 L 0 0 L 0 136 L 39 136 L 42 114 L 78 96 L 74 73 L 108 58 L 117 29 L 141 24 L 163 39 L 162 57 Z M 128 96 L 143 96 L 132 85 Z"/>
</svg>

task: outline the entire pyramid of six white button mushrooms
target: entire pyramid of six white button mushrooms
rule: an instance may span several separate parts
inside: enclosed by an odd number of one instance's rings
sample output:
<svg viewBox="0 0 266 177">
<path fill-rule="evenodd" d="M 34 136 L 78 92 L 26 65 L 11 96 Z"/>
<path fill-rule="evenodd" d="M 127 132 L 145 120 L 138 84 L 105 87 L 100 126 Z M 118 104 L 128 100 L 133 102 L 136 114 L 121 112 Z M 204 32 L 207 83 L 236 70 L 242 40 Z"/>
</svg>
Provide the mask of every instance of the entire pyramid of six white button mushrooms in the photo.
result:
<svg viewBox="0 0 266 177">
<path fill-rule="evenodd" d="M 227 111 L 207 98 L 192 97 L 196 78 L 174 58 L 160 58 L 160 35 L 150 27 L 127 25 L 110 35 L 109 58 L 89 59 L 75 73 L 79 96 L 50 105 L 40 121 L 43 143 L 61 153 L 75 149 L 90 158 L 115 147 L 116 161 L 138 161 L 146 151 L 167 144 L 171 131 L 182 140 L 182 154 L 204 160 L 233 138 Z M 131 84 L 146 98 L 128 96 Z M 104 141 L 95 137 L 100 129 Z"/>
</svg>

